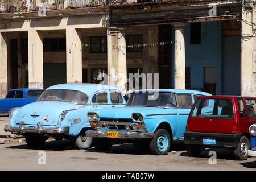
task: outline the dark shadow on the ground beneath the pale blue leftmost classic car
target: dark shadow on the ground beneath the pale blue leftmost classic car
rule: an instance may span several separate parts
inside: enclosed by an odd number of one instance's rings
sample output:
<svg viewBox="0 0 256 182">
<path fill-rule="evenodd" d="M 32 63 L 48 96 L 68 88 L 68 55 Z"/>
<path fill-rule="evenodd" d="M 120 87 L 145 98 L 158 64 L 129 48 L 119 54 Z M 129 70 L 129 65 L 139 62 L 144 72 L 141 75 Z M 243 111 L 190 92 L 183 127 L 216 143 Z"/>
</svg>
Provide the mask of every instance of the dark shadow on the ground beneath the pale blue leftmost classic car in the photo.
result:
<svg viewBox="0 0 256 182">
<path fill-rule="evenodd" d="M 63 150 L 72 149 L 72 141 L 68 140 L 68 139 L 64 139 L 61 141 L 50 140 L 50 141 L 46 141 L 44 146 L 40 147 L 40 148 L 31 148 L 31 147 L 28 147 L 27 144 L 19 144 L 16 146 L 9 146 L 6 148 L 28 149 L 28 150 L 46 150 L 46 151 L 63 151 Z"/>
</svg>

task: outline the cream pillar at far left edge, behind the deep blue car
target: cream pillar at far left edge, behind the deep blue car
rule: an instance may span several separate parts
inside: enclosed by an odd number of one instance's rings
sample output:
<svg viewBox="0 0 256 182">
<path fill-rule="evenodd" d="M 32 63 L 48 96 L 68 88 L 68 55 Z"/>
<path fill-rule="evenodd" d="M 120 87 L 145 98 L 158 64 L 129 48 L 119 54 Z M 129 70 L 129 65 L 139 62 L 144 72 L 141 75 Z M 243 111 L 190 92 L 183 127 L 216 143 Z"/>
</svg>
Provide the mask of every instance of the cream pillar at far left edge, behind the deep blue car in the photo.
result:
<svg viewBox="0 0 256 182">
<path fill-rule="evenodd" d="M 0 98 L 4 98 L 8 90 L 7 35 L 5 32 L 0 32 L 0 55 Z"/>
</svg>

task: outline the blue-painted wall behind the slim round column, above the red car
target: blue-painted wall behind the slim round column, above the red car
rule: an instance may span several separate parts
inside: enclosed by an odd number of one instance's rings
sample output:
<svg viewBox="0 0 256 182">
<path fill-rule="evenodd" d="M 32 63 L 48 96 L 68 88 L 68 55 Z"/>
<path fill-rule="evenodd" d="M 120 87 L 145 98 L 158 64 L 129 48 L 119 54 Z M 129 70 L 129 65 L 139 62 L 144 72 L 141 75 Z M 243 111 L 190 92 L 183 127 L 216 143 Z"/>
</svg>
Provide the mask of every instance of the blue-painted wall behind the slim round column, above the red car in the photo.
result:
<svg viewBox="0 0 256 182">
<path fill-rule="evenodd" d="M 172 28 L 172 68 L 174 68 L 174 28 Z M 204 86 L 204 67 L 216 67 L 216 94 L 221 94 L 221 24 L 201 23 L 201 44 L 190 44 L 190 24 L 185 26 L 186 67 L 191 68 L 191 89 Z M 172 86 L 174 70 L 172 69 Z"/>
</svg>

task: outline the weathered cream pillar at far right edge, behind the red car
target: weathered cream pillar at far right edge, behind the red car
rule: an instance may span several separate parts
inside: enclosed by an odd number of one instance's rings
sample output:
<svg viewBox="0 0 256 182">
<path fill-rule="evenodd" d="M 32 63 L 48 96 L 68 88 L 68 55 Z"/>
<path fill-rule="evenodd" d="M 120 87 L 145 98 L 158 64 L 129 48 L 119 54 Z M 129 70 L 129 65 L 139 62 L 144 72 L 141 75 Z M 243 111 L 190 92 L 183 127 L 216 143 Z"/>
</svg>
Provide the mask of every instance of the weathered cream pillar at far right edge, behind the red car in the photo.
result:
<svg viewBox="0 0 256 182">
<path fill-rule="evenodd" d="M 256 96 L 256 59 L 254 55 L 255 35 L 252 23 L 253 11 L 242 7 L 242 39 L 241 39 L 241 95 Z"/>
</svg>

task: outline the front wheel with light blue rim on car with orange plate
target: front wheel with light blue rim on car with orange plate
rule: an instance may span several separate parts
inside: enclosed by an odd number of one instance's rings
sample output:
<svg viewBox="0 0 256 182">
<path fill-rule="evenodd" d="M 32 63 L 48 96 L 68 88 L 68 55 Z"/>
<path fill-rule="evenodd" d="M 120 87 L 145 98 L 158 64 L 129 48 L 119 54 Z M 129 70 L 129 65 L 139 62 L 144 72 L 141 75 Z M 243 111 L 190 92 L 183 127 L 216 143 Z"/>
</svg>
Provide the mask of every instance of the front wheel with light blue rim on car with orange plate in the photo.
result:
<svg viewBox="0 0 256 182">
<path fill-rule="evenodd" d="M 154 138 L 151 140 L 150 150 L 154 155 L 165 155 L 168 154 L 168 151 L 171 147 L 171 137 L 168 131 L 164 129 L 158 129 Z"/>
</svg>

